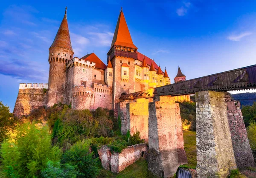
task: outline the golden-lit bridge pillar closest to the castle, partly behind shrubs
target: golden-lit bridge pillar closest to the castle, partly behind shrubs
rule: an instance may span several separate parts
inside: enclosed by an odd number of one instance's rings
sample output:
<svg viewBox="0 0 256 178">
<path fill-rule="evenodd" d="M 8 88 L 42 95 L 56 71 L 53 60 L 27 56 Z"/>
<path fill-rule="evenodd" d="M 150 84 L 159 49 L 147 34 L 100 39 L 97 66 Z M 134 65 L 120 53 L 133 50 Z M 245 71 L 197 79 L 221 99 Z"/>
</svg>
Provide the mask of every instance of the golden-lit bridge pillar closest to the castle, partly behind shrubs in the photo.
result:
<svg viewBox="0 0 256 178">
<path fill-rule="evenodd" d="M 134 99 L 126 104 L 127 108 L 127 128 L 131 136 L 140 131 L 142 139 L 148 142 L 148 99 Z"/>
</svg>

